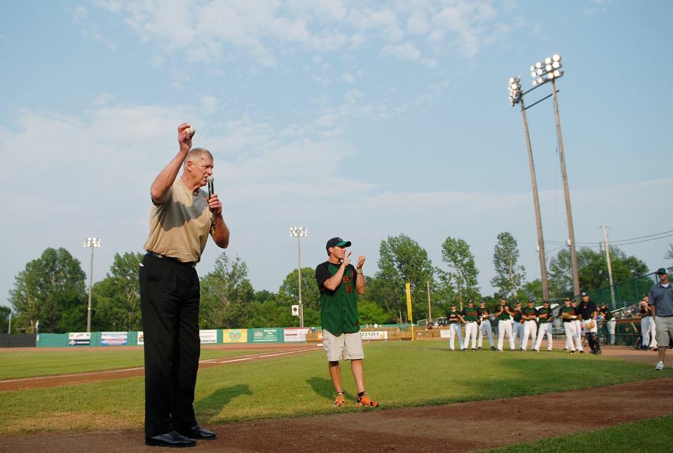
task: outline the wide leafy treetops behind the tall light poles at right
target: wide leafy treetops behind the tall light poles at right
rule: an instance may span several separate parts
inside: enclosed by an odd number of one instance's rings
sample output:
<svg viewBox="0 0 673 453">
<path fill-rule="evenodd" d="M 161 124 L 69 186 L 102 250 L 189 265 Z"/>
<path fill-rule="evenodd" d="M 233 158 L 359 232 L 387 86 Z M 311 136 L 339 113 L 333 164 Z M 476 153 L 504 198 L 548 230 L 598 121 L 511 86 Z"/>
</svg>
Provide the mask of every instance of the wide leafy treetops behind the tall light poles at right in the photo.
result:
<svg viewBox="0 0 673 453">
<path fill-rule="evenodd" d="M 627 256 L 625 252 L 610 247 L 612 276 L 615 283 L 641 276 L 648 271 L 647 265 L 637 257 Z M 609 286 L 608 265 L 602 252 L 590 248 L 577 250 L 577 267 L 580 288 L 591 291 Z M 570 264 L 570 251 L 560 250 L 552 258 L 549 266 L 550 283 L 560 291 L 572 292 L 573 273 Z"/>
</svg>

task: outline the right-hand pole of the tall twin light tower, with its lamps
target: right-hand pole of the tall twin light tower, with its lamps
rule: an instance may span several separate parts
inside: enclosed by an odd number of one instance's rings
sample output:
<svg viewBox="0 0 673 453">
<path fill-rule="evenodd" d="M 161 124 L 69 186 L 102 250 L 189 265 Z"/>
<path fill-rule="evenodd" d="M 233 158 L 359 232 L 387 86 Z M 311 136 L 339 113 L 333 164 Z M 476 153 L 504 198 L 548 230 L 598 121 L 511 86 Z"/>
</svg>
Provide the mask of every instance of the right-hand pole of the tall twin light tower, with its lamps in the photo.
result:
<svg viewBox="0 0 673 453">
<path fill-rule="evenodd" d="M 559 141 L 559 160 L 561 161 L 561 176 L 563 178 L 563 191 L 566 199 L 566 217 L 568 219 L 568 236 L 570 245 L 570 262 L 573 270 L 574 297 L 580 295 L 580 278 L 577 267 L 577 252 L 575 249 L 575 228 L 573 227 L 573 211 L 570 206 L 570 189 L 568 187 L 568 174 L 566 172 L 566 155 L 563 149 L 563 135 L 561 133 L 561 119 L 559 116 L 559 98 L 557 97 L 556 79 L 562 77 L 564 70 L 561 55 L 555 54 L 547 57 L 543 62 L 536 62 L 531 66 L 533 88 L 545 83 L 552 83 L 552 95 L 554 96 L 554 113 L 556 114 L 556 135 Z M 545 98 L 546 99 L 546 98 Z"/>
</svg>

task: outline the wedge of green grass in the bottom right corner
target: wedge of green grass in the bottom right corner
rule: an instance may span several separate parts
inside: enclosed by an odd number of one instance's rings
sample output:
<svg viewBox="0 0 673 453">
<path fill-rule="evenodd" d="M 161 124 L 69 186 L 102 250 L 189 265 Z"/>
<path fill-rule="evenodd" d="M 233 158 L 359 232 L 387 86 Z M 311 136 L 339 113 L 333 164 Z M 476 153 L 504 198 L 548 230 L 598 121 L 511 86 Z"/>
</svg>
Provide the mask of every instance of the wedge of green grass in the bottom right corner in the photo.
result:
<svg viewBox="0 0 673 453">
<path fill-rule="evenodd" d="M 670 452 L 672 445 L 673 416 L 668 416 L 483 451 L 490 453 Z"/>
</svg>

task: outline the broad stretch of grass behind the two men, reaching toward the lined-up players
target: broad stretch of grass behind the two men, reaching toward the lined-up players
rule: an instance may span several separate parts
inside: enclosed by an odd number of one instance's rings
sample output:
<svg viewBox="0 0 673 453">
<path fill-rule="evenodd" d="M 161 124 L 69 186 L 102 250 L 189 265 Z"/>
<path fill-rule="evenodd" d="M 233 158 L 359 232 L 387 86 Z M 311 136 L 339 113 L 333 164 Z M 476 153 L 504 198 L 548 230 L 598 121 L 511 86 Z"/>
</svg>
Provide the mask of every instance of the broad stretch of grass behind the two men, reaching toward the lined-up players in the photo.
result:
<svg viewBox="0 0 673 453">
<path fill-rule="evenodd" d="M 128 364 L 126 351 L 101 352 L 106 353 L 101 368 Z M 45 367 L 46 358 L 53 353 L 32 353 L 34 363 L 29 366 L 35 375 L 55 373 Z M 368 343 L 365 354 L 367 391 L 385 408 L 505 398 L 659 377 L 650 365 L 605 357 L 570 356 L 560 351 L 449 352 L 445 342 Z M 27 366 L 5 363 L 13 357 L 3 358 L 2 370 Z M 69 365 L 62 363 L 60 372 L 82 370 L 90 357 L 95 355 L 68 355 Z M 348 364 L 341 366 L 346 398 L 352 401 L 353 378 Z M 137 377 L 0 393 L 0 435 L 138 428 L 143 423 L 143 392 L 143 379 Z M 203 424 L 330 414 L 334 412 L 332 392 L 325 354 L 317 350 L 200 370 L 195 407 Z"/>
</svg>

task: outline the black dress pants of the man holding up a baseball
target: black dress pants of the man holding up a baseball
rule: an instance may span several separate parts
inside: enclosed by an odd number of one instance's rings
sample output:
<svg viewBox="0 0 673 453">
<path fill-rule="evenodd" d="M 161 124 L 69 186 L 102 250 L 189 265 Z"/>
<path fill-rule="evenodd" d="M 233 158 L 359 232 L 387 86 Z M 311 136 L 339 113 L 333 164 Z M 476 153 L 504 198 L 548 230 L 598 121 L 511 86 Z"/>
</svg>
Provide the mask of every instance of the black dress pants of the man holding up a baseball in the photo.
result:
<svg viewBox="0 0 673 453">
<path fill-rule="evenodd" d="M 198 275 L 192 266 L 152 255 L 142 259 L 146 437 L 196 425 L 199 298 Z"/>
</svg>

